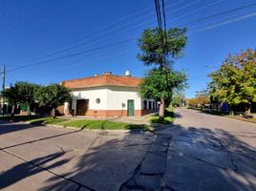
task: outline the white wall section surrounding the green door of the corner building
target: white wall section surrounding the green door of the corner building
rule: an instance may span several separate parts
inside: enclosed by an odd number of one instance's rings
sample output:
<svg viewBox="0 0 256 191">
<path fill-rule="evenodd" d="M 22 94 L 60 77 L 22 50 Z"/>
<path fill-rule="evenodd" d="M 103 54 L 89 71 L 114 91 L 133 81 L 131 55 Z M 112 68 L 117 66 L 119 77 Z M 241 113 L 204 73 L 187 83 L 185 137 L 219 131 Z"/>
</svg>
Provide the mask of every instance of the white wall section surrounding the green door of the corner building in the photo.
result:
<svg viewBox="0 0 256 191">
<path fill-rule="evenodd" d="M 133 87 L 107 87 L 108 110 L 127 110 L 127 100 L 134 99 L 135 110 L 141 110 L 141 98 L 139 88 Z"/>
</svg>

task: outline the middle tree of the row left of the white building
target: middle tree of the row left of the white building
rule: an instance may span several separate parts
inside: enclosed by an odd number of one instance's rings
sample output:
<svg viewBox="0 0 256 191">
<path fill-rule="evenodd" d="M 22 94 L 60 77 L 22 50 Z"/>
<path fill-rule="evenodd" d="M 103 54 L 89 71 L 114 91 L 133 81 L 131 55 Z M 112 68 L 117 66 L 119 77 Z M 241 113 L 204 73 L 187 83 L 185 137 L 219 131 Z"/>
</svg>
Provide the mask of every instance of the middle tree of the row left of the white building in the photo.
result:
<svg viewBox="0 0 256 191">
<path fill-rule="evenodd" d="M 20 97 L 20 102 L 28 104 L 28 114 L 31 115 L 32 107 L 35 105 L 34 95 L 40 86 L 29 82 L 17 82 L 15 87 Z"/>
</svg>

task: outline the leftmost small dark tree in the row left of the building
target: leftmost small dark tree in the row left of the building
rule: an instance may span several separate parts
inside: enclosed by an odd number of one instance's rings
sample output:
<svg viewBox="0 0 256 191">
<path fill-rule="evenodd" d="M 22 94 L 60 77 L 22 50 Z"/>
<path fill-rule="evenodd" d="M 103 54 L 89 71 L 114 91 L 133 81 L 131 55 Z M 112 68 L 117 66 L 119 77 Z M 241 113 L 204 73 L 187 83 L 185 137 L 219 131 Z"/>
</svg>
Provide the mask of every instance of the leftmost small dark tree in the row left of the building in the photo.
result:
<svg viewBox="0 0 256 191">
<path fill-rule="evenodd" d="M 11 105 L 11 116 L 14 116 L 15 108 L 21 102 L 21 97 L 18 94 L 18 89 L 16 86 L 11 86 L 2 91 L 2 96 L 8 101 Z"/>
</svg>

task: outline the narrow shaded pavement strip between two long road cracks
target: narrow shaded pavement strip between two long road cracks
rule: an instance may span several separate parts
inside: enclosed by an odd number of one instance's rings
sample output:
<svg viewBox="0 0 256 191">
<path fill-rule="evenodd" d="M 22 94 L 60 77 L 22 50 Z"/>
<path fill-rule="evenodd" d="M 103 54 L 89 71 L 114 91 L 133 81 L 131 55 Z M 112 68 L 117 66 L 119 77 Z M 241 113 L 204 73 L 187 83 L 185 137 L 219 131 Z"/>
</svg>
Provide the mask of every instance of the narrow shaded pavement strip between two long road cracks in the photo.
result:
<svg viewBox="0 0 256 191">
<path fill-rule="evenodd" d="M 167 166 L 167 153 L 172 137 L 166 137 L 164 134 L 155 135 L 155 138 L 147 148 L 144 157 L 139 161 L 139 165 L 134 170 L 131 178 L 121 184 L 119 191 L 131 189 L 155 191 L 162 190 L 162 188 L 171 190 L 165 185 L 162 186 L 162 178 Z M 154 162 L 156 163 L 154 164 Z M 156 165 L 157 168 L 154 169 L 151 165 Z"/>
</svg>

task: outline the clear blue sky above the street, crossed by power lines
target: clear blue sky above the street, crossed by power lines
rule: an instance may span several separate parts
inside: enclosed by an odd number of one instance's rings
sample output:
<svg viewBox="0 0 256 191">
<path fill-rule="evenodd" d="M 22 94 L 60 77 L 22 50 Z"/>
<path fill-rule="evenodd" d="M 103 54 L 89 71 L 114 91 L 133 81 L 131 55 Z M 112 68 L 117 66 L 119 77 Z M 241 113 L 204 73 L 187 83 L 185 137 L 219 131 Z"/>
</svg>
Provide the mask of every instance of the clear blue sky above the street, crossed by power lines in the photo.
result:
<svg viewBox="0 0 256 191">
<path fill-rule="evenodd" d="M 188 46 L 175 64 L 189 76 L 187 97 L 206 87 L 206 75 L 228 53 L 256 48 L 256 6 L 198 21 L 255 0 L 165 2 L 168 28 L 188 28 Z M 1 0 L 0 23 L 0 62 L 7 65 L 7 86 L 21 80 L 49 84 L 105 71 L 130 70 L 142 76 L 148 68 L 137 59 L 136 38 L 143 29 L 157 26 L 154 0 Z M 67 55 L 74 56 L 59 59 Z"/>
</svg>

